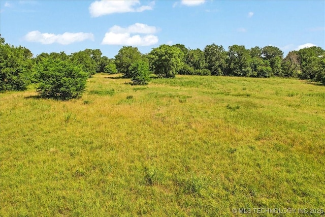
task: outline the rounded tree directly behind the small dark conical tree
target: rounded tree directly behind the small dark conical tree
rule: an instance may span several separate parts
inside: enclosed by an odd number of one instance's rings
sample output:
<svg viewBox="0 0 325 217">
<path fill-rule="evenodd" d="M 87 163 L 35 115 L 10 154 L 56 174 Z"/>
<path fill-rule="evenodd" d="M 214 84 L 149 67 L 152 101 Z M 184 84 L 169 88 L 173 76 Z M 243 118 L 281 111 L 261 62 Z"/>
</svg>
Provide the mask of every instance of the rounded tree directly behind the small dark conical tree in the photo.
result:
<svg viewBox="0 0 325 217">
<path fill-rule="evenodd" d="M 142 55 L 137 47 L 123 46 L 115 55 L 115 65 L 119 73 L 125 78 L 131 78 L 129 67 L 137 60 L 140 60 Z"/>
</svg>

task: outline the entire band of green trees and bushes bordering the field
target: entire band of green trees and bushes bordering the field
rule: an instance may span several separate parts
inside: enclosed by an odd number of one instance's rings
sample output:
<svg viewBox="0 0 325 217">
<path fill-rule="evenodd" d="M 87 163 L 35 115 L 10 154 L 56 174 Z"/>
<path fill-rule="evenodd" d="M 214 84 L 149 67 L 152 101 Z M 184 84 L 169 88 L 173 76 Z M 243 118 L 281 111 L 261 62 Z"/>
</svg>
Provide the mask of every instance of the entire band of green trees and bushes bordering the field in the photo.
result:
<svg viewBox="0 0 325 217">
<path fill-rule="evenodd" d="M 5 43 L 0 37 L 0 91 L 25 90 L 36 84 L 41 97 L 80 97 L 87 78 L 96 73 L 121 73 L 133 84 L 147 84 L 150 75 L 173 78 L 181 75 L 242 77 L 294 77 L 325 84 L 325 50 L 321 47 L 290 51 L 284 58 L 275 46 L 246 49 L 243 45 L 207 45 L 204 50 L 182 44 L 160 45 L 142 54 L 137 47 L 123 46 L 115 58 L 100 49 L 85 49 L 68 55 L 41 53 L 33 57 L 25 47 Z"/>
</svg>

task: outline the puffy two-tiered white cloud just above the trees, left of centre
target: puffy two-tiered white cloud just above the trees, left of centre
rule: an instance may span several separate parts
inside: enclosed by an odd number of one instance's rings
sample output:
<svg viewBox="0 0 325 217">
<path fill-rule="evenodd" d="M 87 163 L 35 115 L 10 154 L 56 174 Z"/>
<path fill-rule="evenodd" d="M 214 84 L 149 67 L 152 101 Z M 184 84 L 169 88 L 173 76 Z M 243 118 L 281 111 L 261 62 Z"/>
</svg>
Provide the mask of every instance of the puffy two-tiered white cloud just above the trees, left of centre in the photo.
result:
<svg viewBox="0 0 325 217">
<path fill-rule="evenodd" d="M 149 46 L 158 42 L 158 37 L 152 34 L 157 32 L 155 26 L 143 23 L 135 23 L 126 28 L 114 25 L 105 34 L 102 44 L 107 45 L 128 45 L 128 46 Z M 146 34 L 144 36 L 131 34 Z"/>
</svg>

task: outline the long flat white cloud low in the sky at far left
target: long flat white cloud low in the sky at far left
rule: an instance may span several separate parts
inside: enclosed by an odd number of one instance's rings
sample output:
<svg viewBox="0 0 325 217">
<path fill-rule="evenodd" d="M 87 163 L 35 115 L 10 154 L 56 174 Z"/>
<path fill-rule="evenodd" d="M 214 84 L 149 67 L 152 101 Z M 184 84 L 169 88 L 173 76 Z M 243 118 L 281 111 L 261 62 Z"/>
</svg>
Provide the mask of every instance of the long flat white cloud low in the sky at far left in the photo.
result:
<svg viewBox="0 0 325 217">
<path fill-rule="evenodd" d="M 39 42 L 42 44 L 58 43 L 68 45 L 75 42 L 81 42 L 87 39 L 93 41 L 92 33 L 63 33 L 55 35 L 52 33 L 41 33 L 38 30 L 29 32 L 25 35 L 24 39 L 28 42 Z"/>
</svg>

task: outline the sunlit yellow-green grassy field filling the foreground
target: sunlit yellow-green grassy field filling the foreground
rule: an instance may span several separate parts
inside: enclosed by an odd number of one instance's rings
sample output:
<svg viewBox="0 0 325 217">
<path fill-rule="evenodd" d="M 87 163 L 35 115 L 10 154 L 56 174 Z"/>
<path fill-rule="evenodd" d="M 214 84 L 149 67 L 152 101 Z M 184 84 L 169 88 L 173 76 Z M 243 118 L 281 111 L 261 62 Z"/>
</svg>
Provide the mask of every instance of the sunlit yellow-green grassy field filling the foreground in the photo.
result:
<svg viewBox="0 0 325 217">
<path fill-rule="evenodd" d="M 32 88 L 0 94 L 1 216 L 325 208 L 325 86 L 119 76 L 96 74 L 67 102 Z"/>
</svg>

